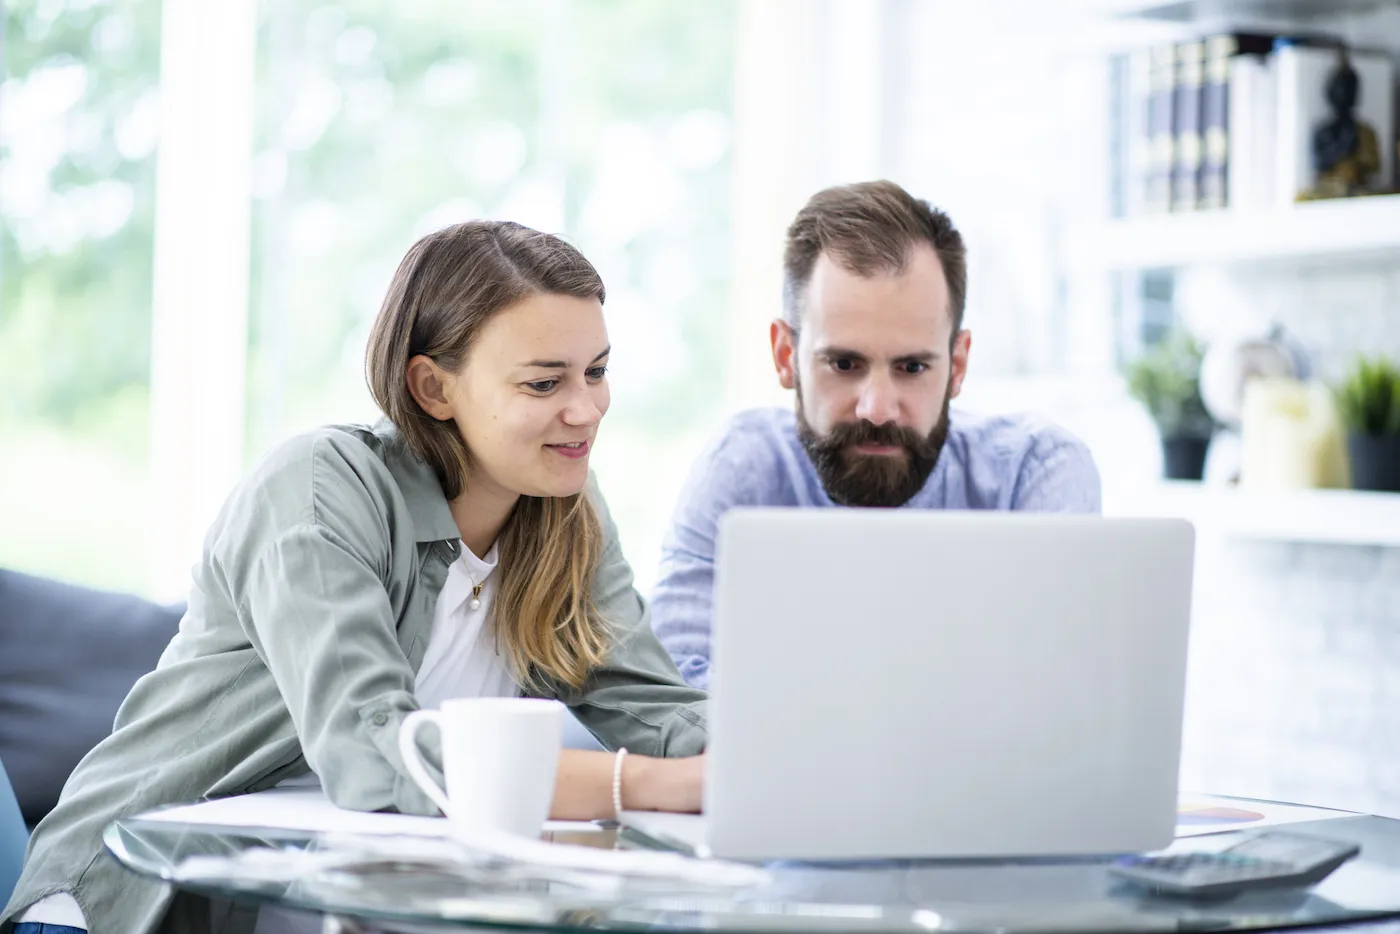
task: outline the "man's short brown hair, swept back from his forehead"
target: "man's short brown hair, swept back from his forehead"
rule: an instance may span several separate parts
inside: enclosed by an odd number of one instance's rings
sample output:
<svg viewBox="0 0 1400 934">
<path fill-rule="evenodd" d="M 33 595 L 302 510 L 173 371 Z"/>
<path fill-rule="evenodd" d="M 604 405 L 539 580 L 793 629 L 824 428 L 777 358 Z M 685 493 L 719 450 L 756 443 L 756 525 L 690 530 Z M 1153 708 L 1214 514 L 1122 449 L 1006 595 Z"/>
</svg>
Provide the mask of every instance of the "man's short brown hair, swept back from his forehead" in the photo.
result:
<svg viewBox="0 0 1400 934">
<path fill-rule="evenodd" d="M 812 267 L 822 253 L 860 276 L 899 273 L 920 242 L 934 248 L 948 280 L 953 335 L 967 302 L 967 248 L 948 214 L 895 182 L 827 188 L 812 196 L 788 227 L 783 255 L 783 316 L 797 328 Z"/>
</svg>

